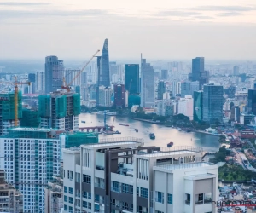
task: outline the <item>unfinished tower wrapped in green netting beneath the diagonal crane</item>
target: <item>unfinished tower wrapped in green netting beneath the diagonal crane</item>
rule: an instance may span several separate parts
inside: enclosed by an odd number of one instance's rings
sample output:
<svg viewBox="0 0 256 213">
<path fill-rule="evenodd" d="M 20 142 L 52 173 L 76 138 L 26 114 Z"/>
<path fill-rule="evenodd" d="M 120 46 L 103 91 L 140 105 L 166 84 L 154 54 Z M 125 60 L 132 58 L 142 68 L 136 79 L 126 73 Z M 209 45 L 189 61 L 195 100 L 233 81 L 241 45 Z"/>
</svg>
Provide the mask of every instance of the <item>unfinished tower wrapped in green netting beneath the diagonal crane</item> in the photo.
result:
<svg viewBox="0 0 256 213">
<path fill-rule="evenodd" d="M 65 90 L 39 95 L 40 127 L 79 130 L 80 95 Z"/>
</svg>

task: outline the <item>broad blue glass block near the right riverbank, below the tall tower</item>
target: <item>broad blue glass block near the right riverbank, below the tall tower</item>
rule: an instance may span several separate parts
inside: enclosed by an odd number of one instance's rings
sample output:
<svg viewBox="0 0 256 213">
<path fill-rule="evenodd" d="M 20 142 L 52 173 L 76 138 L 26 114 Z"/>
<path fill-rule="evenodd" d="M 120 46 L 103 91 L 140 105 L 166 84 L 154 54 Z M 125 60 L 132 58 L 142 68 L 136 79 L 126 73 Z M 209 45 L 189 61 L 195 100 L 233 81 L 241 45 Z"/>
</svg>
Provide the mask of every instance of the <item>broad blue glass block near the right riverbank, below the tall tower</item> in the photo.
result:
<svg viewBox="0 0 256 213">
<path fill-rule="evenodd" d="M 203 89 L 203 121 L 207 123 L 223 122 L 224 104 L 223 86 L 213 83 L 204 85 Z"/>
</svg>

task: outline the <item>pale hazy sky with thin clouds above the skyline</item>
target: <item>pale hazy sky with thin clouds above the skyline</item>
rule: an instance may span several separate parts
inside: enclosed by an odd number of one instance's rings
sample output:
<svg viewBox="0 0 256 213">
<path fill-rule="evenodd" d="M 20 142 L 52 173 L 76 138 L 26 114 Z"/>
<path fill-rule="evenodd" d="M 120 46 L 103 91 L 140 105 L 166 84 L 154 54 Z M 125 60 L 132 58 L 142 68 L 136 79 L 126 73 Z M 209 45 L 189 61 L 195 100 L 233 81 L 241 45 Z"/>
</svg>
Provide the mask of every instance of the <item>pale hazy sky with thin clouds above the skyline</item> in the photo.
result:
<svg viewBox="0 0 256 213">
<path fill-rule="evenodd" d="M 0 58 L 256 59 L 255 0 L 0 0 Z"/>
</svg>

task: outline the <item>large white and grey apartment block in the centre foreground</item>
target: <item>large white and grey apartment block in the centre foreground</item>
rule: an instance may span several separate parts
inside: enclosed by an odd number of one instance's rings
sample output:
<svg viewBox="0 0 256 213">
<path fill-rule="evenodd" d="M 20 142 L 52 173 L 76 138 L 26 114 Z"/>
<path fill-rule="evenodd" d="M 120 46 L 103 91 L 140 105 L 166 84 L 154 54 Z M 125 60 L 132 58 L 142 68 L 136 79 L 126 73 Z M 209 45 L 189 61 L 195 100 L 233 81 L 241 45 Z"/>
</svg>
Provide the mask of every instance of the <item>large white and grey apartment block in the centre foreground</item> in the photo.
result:
<svg viewBox="0 0 256 213">
<path fill-rule="evenodd" d="M 106 141 L 63 150 L 64 212 L 215 212 L 218 166 L 200 147 Z"/>
</svg>

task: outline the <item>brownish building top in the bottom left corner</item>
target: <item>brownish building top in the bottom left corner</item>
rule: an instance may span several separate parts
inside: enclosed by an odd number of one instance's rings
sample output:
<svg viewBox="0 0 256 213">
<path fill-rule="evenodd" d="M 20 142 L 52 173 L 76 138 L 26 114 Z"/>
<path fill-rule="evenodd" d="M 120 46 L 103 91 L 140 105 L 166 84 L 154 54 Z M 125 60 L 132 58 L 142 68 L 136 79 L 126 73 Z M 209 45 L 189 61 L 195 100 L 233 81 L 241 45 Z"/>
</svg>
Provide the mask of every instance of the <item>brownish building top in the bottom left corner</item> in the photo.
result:
<svg viewBox="0 0 256 213">
<path fill-rule="evenodd" d="M 4 170 L 0 170 L 0 212 L 23 212 L 23 196 L 5 180 Z"/>
</svg>

